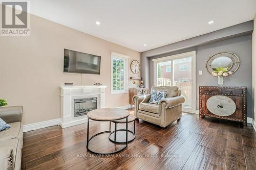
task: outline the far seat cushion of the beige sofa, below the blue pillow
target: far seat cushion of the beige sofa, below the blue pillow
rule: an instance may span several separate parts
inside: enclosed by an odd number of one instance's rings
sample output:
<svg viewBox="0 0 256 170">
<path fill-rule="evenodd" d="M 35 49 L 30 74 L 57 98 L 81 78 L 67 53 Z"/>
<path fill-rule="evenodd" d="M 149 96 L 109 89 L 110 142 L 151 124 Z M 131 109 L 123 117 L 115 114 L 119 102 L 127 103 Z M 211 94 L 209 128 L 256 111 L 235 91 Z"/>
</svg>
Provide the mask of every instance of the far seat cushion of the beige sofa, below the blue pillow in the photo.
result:
<svg viewBox="0 0 256 170">
<path fill-rule="evenodd" d="M 19 138 L 23 140 L 23 127 L 21 122 L 14 122 L 9 124 L 11 128 L 0 131 L 0 142 L 8 139 Z"/>
</svg>

